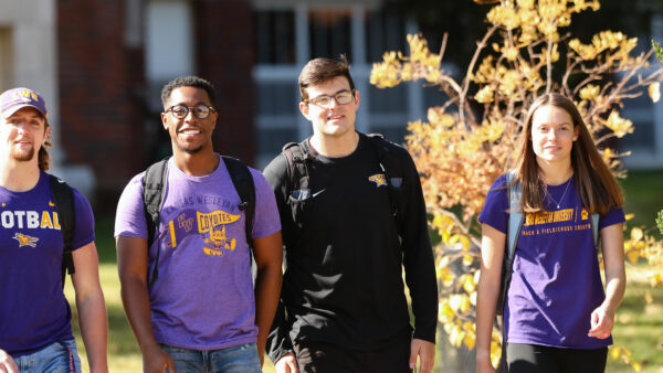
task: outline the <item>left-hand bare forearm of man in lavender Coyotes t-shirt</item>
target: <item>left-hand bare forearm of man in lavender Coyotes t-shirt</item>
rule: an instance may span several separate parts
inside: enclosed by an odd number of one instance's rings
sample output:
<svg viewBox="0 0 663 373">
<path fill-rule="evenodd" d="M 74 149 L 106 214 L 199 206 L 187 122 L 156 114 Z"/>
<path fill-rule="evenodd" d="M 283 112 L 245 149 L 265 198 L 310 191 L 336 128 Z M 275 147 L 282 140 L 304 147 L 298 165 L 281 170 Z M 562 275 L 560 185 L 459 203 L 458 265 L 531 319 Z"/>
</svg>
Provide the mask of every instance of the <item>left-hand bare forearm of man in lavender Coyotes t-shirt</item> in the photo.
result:
<svg viewBox="0 0 663 373">
<path fill-rule="evenodd" d="M 122 283 L 122 302 L 127 313 L 129 324 L 134 330 L 138 345 L 143 355 L 150 349 L 157 347 L 155 334 L 151 327 L 149 295 L 147 291 L 147 283 L 145 279 L 139 279 L 134 276 L 123 278 Z"/>
</svg>

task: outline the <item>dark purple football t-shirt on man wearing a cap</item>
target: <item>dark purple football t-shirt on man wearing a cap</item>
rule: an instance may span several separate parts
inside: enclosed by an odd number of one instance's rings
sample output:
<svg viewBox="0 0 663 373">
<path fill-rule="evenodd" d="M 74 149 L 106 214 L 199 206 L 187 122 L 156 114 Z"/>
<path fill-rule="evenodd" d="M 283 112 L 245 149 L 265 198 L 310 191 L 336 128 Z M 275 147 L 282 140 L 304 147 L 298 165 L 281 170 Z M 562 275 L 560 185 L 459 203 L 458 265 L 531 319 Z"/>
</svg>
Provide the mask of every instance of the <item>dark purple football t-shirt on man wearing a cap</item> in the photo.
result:
<svg viewBox="0 0 663 373">
<path fill-rule="evenodd" d="M 74 190 L 74 249 L 94 241 L 94 216 Z M 63 239 L 49 174 L 27 192 L 0 186 L 0 349 L 14 358 L 72 339 L 62 292 Z"/>
</svg>

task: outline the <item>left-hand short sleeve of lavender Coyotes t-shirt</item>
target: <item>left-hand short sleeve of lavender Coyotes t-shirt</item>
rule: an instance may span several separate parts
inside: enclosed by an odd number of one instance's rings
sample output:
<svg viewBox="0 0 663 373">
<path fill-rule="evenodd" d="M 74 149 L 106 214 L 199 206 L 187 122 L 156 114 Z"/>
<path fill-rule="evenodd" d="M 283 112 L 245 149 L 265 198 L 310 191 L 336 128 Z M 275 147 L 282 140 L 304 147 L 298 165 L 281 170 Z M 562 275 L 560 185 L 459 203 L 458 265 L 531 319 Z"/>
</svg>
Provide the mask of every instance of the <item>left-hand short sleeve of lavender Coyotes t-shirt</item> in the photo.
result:
<svg viewBox="0 0 663 373">
<path fill-rule="evenodd" d="M 147 221 L 143 206 L 144 173 L 134 177 L 119 196 L 115 214 L 115 237 L 147 238 Z"/>
</svg>

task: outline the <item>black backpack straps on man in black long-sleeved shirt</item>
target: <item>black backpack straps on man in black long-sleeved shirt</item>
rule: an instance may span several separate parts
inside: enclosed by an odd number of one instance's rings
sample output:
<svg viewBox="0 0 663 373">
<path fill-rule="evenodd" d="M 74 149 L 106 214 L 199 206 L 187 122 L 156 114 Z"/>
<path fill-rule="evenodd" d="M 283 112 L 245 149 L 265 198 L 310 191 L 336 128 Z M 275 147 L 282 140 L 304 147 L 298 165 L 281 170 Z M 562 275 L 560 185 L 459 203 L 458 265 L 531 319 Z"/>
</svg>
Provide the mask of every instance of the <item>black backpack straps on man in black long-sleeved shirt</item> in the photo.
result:
<svg viewBox="0 0 663 373">
<path fill-rule="evenodd" d="M 378 164 L 385 172 L 385 180 L 388 184 L 389 200 L 391 203 L 391 214 L 397 221 L 399 230 L 402 226 L 402 210 L 406 201 L 403 193 L 403 170 L 400 161 L 391 149 L 394 145 L 385 139 L 380 134 L 367 135 L 371 147 L 373 148 Z M 291 193 L 295 193 L 297 199 L 305 200 L 311 196 L 308 163 L 315 157 L 306 151 L 307 139 L 302 142 L 288 142 L 283 147 L 282 154 L 287 162 L 287 189 Z M 400 235 L 401 232 L 399 232 Z"/>
</svg>

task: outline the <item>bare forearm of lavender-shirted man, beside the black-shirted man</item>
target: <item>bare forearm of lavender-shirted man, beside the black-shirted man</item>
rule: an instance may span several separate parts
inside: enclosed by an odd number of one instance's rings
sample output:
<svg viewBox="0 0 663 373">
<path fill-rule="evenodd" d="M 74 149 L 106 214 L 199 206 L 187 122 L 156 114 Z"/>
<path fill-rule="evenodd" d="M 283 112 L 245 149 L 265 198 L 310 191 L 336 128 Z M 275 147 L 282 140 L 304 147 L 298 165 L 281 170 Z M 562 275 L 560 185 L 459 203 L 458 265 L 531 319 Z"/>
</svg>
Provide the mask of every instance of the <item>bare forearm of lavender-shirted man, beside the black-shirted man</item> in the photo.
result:
<svg viewBox="0 0 663 373">
<path fill-rule="evenodd" d="M 265 352 L 267 335 L 278 306 L 282 283 L 283 274 L 280 266 L 270 265 L 259 268 L 255 278 L 255 324 L 257 326 L 257 352 L 261 356 Z"/>
</svg>

